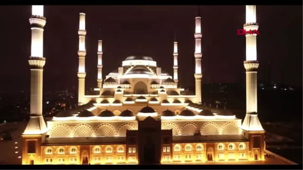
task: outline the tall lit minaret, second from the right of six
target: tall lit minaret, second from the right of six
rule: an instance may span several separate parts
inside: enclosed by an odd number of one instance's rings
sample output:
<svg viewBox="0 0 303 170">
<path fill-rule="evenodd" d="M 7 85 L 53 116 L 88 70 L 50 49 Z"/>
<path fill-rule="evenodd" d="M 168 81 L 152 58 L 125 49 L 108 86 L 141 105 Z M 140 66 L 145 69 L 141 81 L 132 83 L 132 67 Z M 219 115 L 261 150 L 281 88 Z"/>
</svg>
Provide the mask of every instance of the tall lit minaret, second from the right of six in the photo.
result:
<svg viewBox="0 0 303 170">
<path fill-rule="evenodd" d="M 202 52 L 201 52 L 201 17 L 198 7 L 198 15 L 196 17 L 196 29 L 195 29 L 195 60 L 196 60 L 196 67 L 195 67 L 195 82 L 196 82 L 196 103 L 201 103 L 201 58 L 202 58 Z"/>
</svg>

